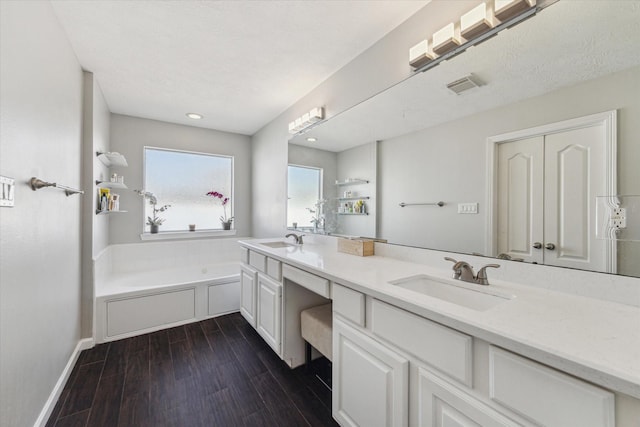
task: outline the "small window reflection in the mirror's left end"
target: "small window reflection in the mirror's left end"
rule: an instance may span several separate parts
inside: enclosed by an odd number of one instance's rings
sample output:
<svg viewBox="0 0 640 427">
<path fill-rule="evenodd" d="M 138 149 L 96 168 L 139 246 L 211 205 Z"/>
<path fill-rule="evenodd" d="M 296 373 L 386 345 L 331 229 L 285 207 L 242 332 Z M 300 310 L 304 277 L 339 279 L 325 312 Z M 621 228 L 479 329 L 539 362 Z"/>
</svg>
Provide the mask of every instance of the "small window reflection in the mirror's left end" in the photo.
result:
<svg viewBox="0 0 640 427">
<path fill-rule="evenodd" d="M 322 198 L 322 169 L 289 165 L 289 200 L 287 203 L 287 227 L 313 227 L 316 206 Z"/>
</svg>

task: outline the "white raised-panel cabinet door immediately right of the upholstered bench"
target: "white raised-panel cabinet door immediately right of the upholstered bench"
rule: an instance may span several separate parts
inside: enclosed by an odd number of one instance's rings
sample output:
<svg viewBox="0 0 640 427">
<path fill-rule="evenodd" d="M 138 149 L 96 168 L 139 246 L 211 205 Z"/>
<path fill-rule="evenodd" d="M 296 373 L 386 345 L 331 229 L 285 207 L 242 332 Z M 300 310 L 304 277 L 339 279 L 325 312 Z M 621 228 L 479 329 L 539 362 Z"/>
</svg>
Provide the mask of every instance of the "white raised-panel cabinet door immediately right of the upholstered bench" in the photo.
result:
<svg viewBox="0 0 640 427">
<path fill-rule="evenodd" d="M 344 426 L 408 425 L 409 362 L 333 318 L 333 417 Z"/>
</svg>

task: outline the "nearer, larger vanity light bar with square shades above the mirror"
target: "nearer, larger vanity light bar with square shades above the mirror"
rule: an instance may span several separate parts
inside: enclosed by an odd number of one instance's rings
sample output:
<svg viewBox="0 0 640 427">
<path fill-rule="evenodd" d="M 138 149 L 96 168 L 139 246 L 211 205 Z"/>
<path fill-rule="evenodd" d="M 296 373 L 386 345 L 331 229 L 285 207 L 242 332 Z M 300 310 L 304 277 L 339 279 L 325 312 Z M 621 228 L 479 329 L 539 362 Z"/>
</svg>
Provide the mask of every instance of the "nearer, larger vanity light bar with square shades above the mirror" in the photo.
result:
<svg viewBox="0 0 640 427">
<path fill-rule="evenodd" d="M 426 71 L 553 3 L 542 1 L 536 8 L 536 0 L 485 0 L 409 49 L 409 65 L 416 72 Z"/>
</svg>

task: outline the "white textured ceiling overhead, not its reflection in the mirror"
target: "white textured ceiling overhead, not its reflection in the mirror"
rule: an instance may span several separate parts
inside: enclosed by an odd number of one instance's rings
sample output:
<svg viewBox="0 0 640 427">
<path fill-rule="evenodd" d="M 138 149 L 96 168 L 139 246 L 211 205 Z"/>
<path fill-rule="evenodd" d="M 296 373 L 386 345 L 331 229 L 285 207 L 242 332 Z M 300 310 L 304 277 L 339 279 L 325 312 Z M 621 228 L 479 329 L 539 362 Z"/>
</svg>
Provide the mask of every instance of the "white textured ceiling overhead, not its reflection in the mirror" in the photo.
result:
<svg viewBox="0 0 640 427">
<path fill-rule="evenodd" d="M 251 135 L 428 2 L 52 4 L 112 112 Z"/>
</svg>

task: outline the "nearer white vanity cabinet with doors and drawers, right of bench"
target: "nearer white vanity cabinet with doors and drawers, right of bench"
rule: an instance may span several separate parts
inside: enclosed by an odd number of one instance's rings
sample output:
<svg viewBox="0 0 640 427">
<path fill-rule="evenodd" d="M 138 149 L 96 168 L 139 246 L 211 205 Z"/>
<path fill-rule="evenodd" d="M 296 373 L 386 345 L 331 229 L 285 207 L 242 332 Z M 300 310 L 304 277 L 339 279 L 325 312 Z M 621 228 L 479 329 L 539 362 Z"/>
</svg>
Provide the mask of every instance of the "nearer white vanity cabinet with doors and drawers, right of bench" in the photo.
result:
<svg viewBox="0 0 640 427">
<path fill-rule="evenodd" d="M 613 393 L 371 297 L 362 324 L 340 308 L 357 295 L 334 285 L 333 415 L 340 425 L 616 425 Z"/>
</svg>

